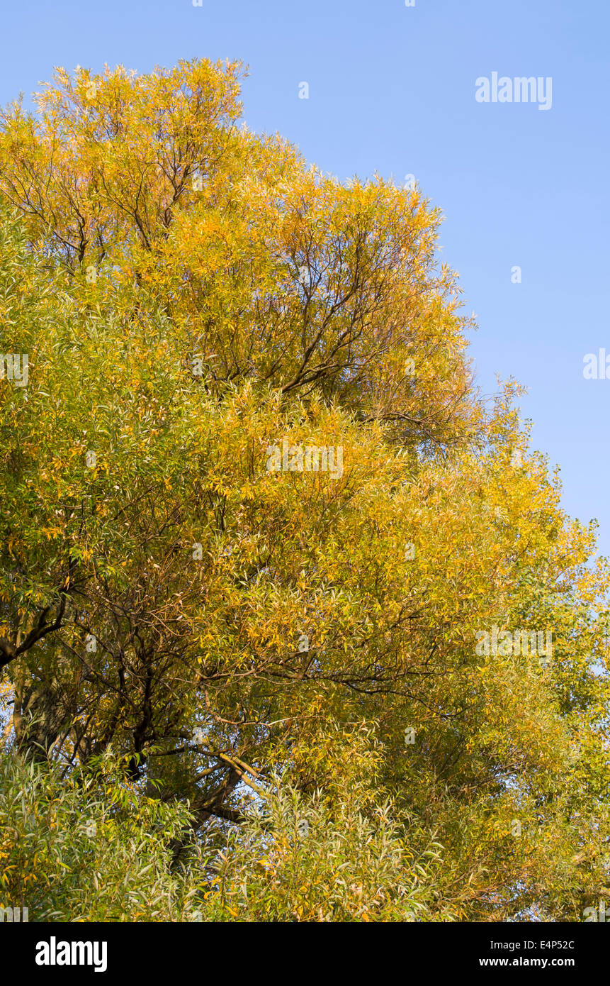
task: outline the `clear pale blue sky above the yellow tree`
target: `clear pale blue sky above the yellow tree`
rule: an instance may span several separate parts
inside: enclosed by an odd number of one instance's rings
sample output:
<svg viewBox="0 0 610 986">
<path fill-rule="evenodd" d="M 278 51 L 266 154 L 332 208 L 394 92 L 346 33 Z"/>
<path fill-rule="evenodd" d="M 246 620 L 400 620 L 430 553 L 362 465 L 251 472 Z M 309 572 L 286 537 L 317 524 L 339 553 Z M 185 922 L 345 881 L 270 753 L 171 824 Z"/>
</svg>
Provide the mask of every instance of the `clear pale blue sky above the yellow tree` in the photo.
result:
<svg viewBox="0 0 610 986">
<path fill-rule="evenodd" d="M 610 555 L 610 379 L 582 376 L 585 353 L 610 354 L 609 36 L 608 0 L 28 0 L 3 7 L 0 102 L 54 65 L 241 58 L 252 128 L 341 178 L 416 176 L 478 317 L 480 386 L 529 388 L 534 447 Z M 551 109 L 477 103 L 492 72 L 552 77 Z"/>
</svg>

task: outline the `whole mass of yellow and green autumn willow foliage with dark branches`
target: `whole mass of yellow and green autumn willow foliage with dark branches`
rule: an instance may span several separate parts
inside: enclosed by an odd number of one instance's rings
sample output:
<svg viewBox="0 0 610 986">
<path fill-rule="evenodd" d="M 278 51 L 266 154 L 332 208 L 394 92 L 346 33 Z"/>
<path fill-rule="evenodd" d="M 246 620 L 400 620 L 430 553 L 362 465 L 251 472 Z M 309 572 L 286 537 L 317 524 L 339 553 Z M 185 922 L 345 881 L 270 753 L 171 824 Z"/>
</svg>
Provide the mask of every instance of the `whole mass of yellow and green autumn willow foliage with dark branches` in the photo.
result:
<svg viewBox="0 0 610 986">
<path fill-rule="evenodd" d="M 250 132 L 241 74 L 59 70 L 2 113 L 0 895 L 580 920 L 610 892 L 594 524 L 520 387 L 474 385 L 439 210 Z"/>
</svg>

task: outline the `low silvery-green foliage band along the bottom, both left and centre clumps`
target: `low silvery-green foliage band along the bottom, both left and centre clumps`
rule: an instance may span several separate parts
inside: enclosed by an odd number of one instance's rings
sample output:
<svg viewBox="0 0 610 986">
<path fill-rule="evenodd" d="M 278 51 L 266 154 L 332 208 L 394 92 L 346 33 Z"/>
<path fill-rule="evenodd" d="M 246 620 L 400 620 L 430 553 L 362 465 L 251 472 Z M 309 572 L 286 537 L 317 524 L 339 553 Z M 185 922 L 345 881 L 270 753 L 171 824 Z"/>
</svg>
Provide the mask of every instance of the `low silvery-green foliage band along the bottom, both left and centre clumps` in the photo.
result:
<svg viewBox="0 0 610 986">
<path fill-rule="evenodd" d="M 30 921 L 416 920 L 433 897 L 429 840 L 357 784 L 329 801 L 288 780 L 244 806 L 241 826 L 187 847 L 171 842 L 186 807 L 147 798 L 104 755 L 95 771 L 5 757 L 0 774 L 0 899 Z"/>
</svg>

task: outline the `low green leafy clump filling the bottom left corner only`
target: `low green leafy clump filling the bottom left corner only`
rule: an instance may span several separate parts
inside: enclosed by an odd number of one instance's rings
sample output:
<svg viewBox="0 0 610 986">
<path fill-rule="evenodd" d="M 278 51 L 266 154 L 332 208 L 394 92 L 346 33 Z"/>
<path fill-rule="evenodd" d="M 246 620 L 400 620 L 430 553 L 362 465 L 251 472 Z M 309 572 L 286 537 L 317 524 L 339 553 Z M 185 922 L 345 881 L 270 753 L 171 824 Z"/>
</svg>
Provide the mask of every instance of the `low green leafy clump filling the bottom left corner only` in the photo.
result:
<svg viewBox="0 0 610 986">
<path fill-rule="evenodd" d="M 0 895 L 30 921 L 173 921 L 189 913 L 169 872 L 181 806 L 145 798 L 106 757 L 85 777 L 5 755 L 0 766 Z"/>
</svg>

